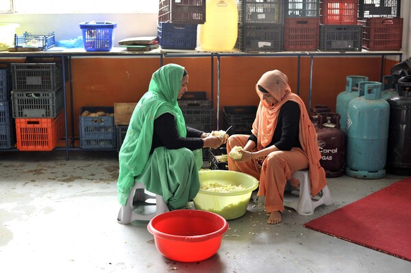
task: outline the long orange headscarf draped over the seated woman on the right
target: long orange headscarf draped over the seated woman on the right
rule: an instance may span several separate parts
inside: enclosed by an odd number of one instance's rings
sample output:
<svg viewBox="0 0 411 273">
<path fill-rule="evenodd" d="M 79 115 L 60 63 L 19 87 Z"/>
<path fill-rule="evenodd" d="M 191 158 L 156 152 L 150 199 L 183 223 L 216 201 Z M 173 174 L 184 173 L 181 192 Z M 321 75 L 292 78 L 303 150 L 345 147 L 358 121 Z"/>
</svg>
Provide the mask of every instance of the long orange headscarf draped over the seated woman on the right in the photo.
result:
<svg viewBox="0 0 411 273">
<path fill-rule="evenodd" d="M 266 103 L 262 99 L 262 93 L 258 90 L 258 86 L 269 92 L 277 100 L 277 103 L 273 105 Z M 258 105 L 256 120 L 253 123 L 252 133 L 257 136 L 258 150 L 271 143 L 282 105 L 286 101 L 298 103 L 300 108 L 299 142 L 308 157 L 311 194 L 316 196 L 327 184 L 327 181 L 325 179 L 325 170 L 320 165 L 321 153 L 317 143 L 316 131 L 310 116 L 308 116 L 306 105 L 297 94 L 291 92 L 287 76 L 279 70 L 264 73 L 256 84 L 256 92 L 260 96 L 260 104 Z"/>
</svg>

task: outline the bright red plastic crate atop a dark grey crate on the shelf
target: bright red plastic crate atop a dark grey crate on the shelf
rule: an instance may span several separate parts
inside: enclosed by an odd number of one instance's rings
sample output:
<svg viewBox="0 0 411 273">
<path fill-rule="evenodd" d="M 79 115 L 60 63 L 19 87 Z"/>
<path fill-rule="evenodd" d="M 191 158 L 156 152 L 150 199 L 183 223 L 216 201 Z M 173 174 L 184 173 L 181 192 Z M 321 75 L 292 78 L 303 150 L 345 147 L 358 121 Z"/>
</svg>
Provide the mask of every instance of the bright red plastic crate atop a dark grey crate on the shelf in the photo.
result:
<svg viewBox="0 0 411 273">
<path fill-rule="evenodd" d="M 321 24 L 357 25 L 358 0 L 323 0 L 320 8 Z"/>
</svg>

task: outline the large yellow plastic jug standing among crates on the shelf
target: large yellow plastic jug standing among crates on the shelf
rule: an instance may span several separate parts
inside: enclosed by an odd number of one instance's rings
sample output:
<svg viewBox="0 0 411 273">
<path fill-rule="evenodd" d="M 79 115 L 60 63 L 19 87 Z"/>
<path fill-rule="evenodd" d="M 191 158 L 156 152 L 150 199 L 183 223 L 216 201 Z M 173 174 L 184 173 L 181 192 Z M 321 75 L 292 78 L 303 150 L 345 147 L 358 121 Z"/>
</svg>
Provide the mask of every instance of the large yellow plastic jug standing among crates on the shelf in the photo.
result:
<svg viewBox="0 0 411 273">
<path fill-rule="evenodd" d="M 206 0 L 206 23 L 199 25 L 199 47 L 205 51 L 230 51 L 238 35 L 236 0 Z"/>
</svg>

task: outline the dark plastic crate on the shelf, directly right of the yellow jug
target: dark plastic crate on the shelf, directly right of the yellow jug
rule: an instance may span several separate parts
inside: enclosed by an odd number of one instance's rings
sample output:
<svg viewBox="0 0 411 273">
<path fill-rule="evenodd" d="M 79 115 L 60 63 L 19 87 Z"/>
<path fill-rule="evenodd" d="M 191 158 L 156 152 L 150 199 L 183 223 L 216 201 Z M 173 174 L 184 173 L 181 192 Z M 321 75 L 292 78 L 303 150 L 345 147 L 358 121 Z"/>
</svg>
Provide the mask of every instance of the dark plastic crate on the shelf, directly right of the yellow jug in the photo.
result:
<svg viewBox="0 0 411 273">
<path fill-rule="evenodd" d="M 240 51 L 282 51 L 283 24 L 239 24 L 236 48 Z"/>
</svg>

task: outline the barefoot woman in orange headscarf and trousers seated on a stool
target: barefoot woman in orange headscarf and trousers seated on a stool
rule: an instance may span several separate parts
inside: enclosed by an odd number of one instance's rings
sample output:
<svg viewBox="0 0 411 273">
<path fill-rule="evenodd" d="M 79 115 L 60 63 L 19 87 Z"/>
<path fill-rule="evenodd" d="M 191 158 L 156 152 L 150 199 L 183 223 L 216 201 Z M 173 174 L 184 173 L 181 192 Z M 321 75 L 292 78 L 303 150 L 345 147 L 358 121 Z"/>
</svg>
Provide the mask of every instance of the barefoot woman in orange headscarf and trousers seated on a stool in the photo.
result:
<svg viewBox="0 0 411 273">
<path fill-rule="evenodd" d="M 295 171 L 309 168 L 312 196 L 327 182 L 316 131 L 303 101 L 291 92 L 287 76 L 279 70 L 264 73 L 256 92 L 260 104 L 251 135 L 232 135 L 227 140 L 227 153 L 234 146 L 243 148 L 240 159 L 228 157 L 228 168 L 260 180 L 258 196 L 264 196 L 267 223 L 278 224 L 287 181 L 299 187 L 299 181 L 291 179 Z"/>
</svg>

